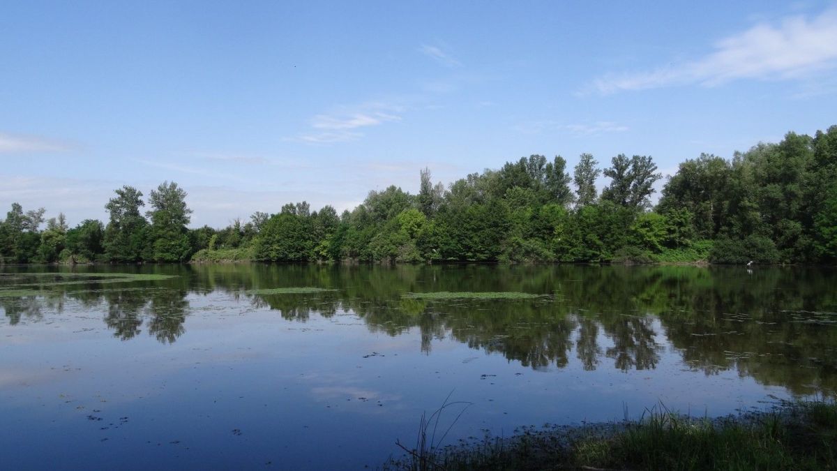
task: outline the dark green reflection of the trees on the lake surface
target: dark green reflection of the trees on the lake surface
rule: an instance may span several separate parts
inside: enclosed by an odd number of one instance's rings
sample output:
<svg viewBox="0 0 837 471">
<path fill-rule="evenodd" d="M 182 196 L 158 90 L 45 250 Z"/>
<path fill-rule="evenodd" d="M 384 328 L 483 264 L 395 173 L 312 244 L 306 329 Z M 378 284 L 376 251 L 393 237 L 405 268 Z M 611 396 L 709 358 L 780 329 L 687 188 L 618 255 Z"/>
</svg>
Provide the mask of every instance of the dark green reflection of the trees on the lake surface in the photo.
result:
<svg viewBox="0 0 837 471">
<path fill-rule="evenodd" d="M 282 318 L 357 313 L 368 329 L 412 330 L 430 353 L 450 337 L 532 368 L 584 370 L 607 365 L 652 369 L 670 344 L 690 368 L 707 375 L 735 370 L 794 393 L 837 390 L 837 274 L 826 269 L 576 266 L 270 266 L 146 267 L 180 275 L 125 289 L 66 291 L 105 306 L 120 339 L 147 332 L 173 342 L 184 332 L 188 292 L 228 292 Z M 130 287 L 129 287 L 130 286 Z M 255 296 L 259 287 L 326 287 L 334 292 Z M 106 288 L 106 289 L 105 289 Z M 141 288 L 141 289 L 137 289 Z M 444 301 L 405 292 L 516 291 L 548 298 Z M 10 324 L 61 309 L 64 297 L 0 299 Z"/>
</svg>

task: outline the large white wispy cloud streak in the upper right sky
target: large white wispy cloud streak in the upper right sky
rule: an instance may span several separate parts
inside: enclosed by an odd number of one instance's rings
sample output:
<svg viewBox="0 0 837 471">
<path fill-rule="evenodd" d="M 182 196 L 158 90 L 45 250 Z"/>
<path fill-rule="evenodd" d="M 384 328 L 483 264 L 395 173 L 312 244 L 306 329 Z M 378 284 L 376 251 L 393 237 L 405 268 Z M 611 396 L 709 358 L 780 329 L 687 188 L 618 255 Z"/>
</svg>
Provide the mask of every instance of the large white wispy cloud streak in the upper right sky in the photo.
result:
<svg viewBox="0 0 837 471">
<path fill-rule="evenodd" d="M 732 80 L 804 79 L 837 65 L 837 9 L 814 18 L 794 16 L 777 25 L 759 23 L 721 39 L 697 60 L 655 70 L 608 74 L 583 93 L 602 95 L 675 85 L 716 86 Z"/>
</svg>

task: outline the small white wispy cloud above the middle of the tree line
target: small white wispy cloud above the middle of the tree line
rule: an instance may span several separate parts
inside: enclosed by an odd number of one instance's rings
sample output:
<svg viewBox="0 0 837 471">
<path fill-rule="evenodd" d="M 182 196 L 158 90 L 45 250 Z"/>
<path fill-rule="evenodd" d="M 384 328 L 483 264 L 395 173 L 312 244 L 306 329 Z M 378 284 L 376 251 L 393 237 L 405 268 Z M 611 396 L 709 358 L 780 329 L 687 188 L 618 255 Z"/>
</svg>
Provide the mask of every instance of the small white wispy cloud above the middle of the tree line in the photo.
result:
<svg viewBox="0 0 837 471">
<path fill-rule="evenodd" d="M 295 140 L 316 144 L 356 141 L 363 137 L 363 128 L 401 121 L 397 114 L 401 111 L 402 106 L 371 102 L 351 110 L 316 115 L 311 118 L 311 132 L 303 133 Z"/>
</svg>

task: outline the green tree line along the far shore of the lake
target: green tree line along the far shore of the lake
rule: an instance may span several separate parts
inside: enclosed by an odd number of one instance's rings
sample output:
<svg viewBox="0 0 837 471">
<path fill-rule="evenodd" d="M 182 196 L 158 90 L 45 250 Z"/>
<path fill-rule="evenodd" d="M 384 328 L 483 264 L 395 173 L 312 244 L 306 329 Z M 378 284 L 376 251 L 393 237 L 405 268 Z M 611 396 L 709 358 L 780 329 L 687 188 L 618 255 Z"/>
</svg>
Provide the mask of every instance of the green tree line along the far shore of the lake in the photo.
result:
<svg viewBox="0 0 837 471">
<path fill-rule="evenodd" d="M 609 183 L 598 193 L 600 176 Z M 0 260 L 88 261 L 561 261 L 833 263 L 837 260 L 837 126 L 789 132 L 732 158 L 701 154 L 662 179 L 649 156 L 606 168 L 582 154 L 542 155 L 471 173 L 449 186 L 419 172 L 419 192 L 371 191 L 338 215 L 305 201 L 256 212 L 223 229 L 188 229 L 192 210 L 173 182 L 143 194 L 116 189 L 109 220 L 73 228 L 63 215 L 12 204 Z"/>
</svg>

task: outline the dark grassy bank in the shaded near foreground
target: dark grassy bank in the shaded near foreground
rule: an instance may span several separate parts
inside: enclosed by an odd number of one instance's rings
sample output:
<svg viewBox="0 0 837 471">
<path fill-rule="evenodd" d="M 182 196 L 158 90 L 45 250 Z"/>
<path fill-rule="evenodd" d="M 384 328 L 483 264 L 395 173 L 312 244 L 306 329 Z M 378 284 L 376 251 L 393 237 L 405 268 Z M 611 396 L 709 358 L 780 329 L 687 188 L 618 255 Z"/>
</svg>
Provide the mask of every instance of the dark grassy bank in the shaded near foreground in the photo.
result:
<svg viewBox="0 0 837 471">
<path fill-rule="evenodd" d="M 384 469 L 837 469 L 834 401 L 783 402 L 716 419 L 659 405 L 635 422 L 523 428 L 446 447 L 430 438 L 430 419 L 423 417 L 415 446 Z"/>
</svg>

